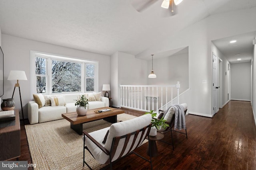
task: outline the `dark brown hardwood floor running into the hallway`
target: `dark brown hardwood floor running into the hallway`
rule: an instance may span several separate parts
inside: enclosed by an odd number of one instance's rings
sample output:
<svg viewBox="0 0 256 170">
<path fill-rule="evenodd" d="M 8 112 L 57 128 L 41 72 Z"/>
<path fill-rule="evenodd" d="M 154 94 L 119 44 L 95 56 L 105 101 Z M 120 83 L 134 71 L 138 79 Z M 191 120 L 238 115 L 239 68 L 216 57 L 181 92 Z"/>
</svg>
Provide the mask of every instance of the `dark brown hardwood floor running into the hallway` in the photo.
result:
<svg viewBox="0 0 256 170">
<path fill-rule="evenodd" d="M 121 109 L 131 115 L 144 114 Z M 186 126 L 188 139 L 186 135 L 173 133 L 174 150 L 171 145 L 156 142 L 159 156 L 152 158 L 153 169 L 256 169 L 256 127 L 250 102 L 230 101 L 213 118 L 186 115 Z M 164 140 L 170 142 L 170 132 L 165 134 Z M 146 154 L 147 147 L 148 144 L 145 144 L 135 151 L 149 158 Z M 21 125 L 21 153 L 20 160 L 31 163 L 24 125 Z M 113 169 L 145 170 L 150 169 L 150 164 L 131 154 L 114 164 Z"/>
</svg>

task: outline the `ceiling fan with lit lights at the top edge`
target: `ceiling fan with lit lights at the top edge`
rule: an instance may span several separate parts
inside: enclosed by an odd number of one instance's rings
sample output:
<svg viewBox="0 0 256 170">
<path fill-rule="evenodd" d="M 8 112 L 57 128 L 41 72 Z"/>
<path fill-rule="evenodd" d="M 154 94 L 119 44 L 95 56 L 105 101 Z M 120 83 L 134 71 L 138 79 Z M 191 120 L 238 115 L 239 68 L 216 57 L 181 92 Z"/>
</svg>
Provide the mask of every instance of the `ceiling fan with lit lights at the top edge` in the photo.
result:
<svg viewBox="0 0 256 170">
<path fill-rule="evenodd" d="M 176 6 L 180 4 L 182 1 L 183 0 L 163 0 L 161 7 L 166 9 L 170 7 L 171 10 L 167 10 L 165 13 L 168 13 L 167 16 L 173 16 L 177 13 Z M 130 0 L 130 2 L 138 12 L 144 12 L 154 4 L 157 4 L 157 6 L 160 7 L 158 0 Z"/>
</svg>

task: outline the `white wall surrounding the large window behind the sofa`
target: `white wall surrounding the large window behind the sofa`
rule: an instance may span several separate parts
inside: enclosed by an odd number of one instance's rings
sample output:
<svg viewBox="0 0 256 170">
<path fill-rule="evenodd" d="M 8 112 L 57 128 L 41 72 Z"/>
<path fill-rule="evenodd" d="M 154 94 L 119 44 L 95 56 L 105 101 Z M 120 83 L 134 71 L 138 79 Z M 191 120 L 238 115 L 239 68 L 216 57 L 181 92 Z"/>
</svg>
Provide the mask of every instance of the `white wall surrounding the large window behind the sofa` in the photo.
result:
<svg viewBox="0 0 256 170">
<path fill-rule="evenodd" d="M 99 61 L 99 92 L 102 90 L 102 84 L 110 84 L 110 56 L 79 51 L 5 34 L 2 34 L 2 47 L 4 49 L 4 96 L 2 98 L 12 97 L 14 84 L 16 82 L 7 80 L 10 70 L 24 70 L 26 72 L 28 81 L 19 81 L 22 104 L 24 106 L 28 103 L 28 101 L 31 100 L 30 50 Z M 16 108 L 21 109 L 19 98 L 19 92 L 18 89 L 16 89 L 16 92 L 14 93 L 14 101 L 16 103 Z M 24 117 L 27 117 L 26 106 L 24 107 Z"/>
</svg>

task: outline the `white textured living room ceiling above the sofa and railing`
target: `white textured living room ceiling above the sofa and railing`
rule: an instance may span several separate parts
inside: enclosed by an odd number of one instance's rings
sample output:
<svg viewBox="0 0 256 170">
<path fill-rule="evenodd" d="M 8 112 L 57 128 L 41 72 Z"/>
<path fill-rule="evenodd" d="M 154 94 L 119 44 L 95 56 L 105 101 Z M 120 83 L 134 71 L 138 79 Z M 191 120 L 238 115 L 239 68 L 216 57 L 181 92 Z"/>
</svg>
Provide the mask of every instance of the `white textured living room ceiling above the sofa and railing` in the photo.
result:
<svg viewBox="0 0 256 170">
<path fill-rule="evenodd" d="M 7 35 L 83 51 L 137 55 L 167 29 L 175 34 L 209 15 L 256 6 L 256 0 L 184 0 L 170 15 L 155 0 L 138 12 L 134 6 L 145 1 L 154 0 L 0 0 L 0 27 Z"/>
</svg>

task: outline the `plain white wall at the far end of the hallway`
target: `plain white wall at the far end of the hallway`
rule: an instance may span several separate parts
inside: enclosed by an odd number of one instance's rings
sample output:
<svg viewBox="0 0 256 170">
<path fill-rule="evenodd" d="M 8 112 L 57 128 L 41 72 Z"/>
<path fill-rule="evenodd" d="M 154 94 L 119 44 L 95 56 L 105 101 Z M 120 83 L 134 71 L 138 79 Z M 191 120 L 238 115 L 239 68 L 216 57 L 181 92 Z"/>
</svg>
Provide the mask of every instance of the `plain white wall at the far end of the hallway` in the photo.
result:
<svg viewBox="0 0 256 170">
<path fill-rule="evenodd" d="M 251 100 L 251 63 L 231 63 L 231 100 Z"/>
</svg>

